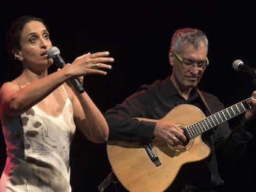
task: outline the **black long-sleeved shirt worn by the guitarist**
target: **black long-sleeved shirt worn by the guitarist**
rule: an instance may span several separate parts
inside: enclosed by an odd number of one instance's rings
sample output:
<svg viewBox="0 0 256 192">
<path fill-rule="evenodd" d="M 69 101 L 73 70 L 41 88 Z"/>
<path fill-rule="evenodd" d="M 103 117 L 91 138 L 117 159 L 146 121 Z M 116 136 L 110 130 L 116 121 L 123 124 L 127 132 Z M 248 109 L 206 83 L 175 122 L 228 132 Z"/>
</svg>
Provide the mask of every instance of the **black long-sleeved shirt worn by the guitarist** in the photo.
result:
<svg viewBox="0 0 256 192">
<path fill-rule="evenodd" d="M 204 91 L 201 93 L 211 114 L 224 109 L 223 103 L 216 96 Z M 191 104 L 198 107 L 205 117 L 210 115 L 197 88 L 191 91 L 186 100 L 178 93 L 169 77 L 156 80 L 151 85 L 142 85 L 122 104 L 117 104 L 104 114 L 109 125 L 109 140 L 150 142 L 153 140 L 156 122 L 139 121 L 134 117 L 161 119 L 179 104 Z M 186 111 L 182 115 L 185 117 Z M 210 156 L 202 161 L 184 165 L 169 190 L 181 191 L 182 188 L 189 187 L 214 190 L 223 185 L 217 161 L 228 162 L 241 157 L 246 143 L 252 139 L 252 127 L 254 122 L 242 117 L 239 125 L 232 130 L 228 122 L 223 122 L 203 133 L 202 141 L 210 148 Z"/>
</svg>

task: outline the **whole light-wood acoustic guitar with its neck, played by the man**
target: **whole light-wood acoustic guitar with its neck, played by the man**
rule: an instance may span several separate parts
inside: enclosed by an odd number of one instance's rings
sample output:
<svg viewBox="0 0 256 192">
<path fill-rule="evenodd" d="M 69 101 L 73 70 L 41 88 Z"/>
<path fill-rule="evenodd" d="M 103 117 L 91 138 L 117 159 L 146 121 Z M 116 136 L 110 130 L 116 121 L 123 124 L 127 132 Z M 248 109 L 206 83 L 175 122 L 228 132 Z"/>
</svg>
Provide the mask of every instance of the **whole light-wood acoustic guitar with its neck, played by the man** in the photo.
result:
<svg viewBox="0 0 256 192">
<path fill-rule="evenodd" d="M 208 117 L 198 107 L 181 104 L 159 120 L 136 118 L 150 122 L 176 123 L 183 128 L 187 142 L 174 148 L 158 138 L 147 144 L 109 140 L 106 146 L 108 159 L 117 179 L 131 192 L 166 190 L 182 165 L 200 161 L 210 154 L 210 148 L 202 141 L 202 133 L 250 109 L 249 101 L 255 97 Z"/>
</svg>

